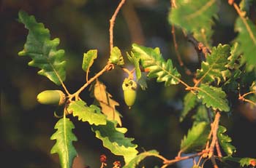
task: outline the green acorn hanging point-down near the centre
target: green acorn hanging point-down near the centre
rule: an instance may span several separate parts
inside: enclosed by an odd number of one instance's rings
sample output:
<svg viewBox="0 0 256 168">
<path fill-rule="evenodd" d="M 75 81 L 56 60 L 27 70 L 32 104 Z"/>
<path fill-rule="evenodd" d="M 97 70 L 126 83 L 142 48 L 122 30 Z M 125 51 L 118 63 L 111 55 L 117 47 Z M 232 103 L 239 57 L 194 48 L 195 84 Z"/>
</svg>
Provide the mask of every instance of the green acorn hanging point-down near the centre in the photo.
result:
<svg viewBox="0 0 256 168">
<path fill-rule="evenodd" d="M 136 100 L 137 84 L 132 79 L 124 79 L 122 89 L 124 91 L 124 102 L 131 108 Z"/>
</svg>

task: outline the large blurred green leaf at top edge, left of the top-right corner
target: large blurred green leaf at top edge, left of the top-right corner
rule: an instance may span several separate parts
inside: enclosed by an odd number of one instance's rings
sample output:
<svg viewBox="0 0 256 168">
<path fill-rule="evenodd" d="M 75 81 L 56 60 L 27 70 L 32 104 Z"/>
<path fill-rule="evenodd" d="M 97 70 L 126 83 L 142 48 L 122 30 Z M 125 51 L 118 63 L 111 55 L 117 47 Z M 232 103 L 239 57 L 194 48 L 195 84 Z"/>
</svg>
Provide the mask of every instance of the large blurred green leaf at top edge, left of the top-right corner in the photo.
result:
<svg viewBox="0 0 256 168">
<path fill-rule="evenodd" d="M 195 39 L 210 46 L 213 33 L 211 26 L 217 12 L 217 0 L 177 0 L 176 7 L 170 10 L 168 20 L 188 33 L 194 33 Z"/>
</svg>

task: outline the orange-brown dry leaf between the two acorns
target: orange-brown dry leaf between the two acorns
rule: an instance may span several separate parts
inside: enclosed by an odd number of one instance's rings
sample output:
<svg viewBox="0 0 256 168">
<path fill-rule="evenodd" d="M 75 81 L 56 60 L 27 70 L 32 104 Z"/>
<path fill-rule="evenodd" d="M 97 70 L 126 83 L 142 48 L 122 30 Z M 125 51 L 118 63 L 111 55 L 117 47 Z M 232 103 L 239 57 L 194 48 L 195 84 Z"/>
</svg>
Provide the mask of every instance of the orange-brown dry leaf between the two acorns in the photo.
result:
<svg viewBox="0 0 256 168">
<path fill-rule="evenodd" d="M 116 110 L 119 103 L 112 99 L 112 95 L 107 91 L 105 84 L 97 80 L 91 88 L 91 95 L 97 100 L 102 108 L 102 113 L 107 116 L 108 120 L 117 121 L 121 126 L 121 114 Z"/>
</svg>

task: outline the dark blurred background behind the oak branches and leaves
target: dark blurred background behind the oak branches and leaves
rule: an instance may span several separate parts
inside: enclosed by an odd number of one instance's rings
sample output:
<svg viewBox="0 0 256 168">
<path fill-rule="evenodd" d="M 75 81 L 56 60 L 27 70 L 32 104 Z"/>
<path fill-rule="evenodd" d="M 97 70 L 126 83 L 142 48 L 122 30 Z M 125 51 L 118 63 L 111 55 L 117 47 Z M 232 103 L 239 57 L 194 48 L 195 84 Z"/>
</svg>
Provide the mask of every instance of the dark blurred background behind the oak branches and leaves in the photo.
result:
<svg viewBox="0 0 256 168">
<path fill-rule="evenodd" d="M 28 31 L 18 23 L 18 11 L 23 9 L 34 15 L 38 22 L 49 28 L 51 38 L 59 37 L 59 49 L 65 50 L 67 79 L 64 82 L 70 92 L 75 92 L 86 81 L 81 68 L 83 53 L 98 49 L 98 58 L 91 68 L 91 76 L 100 71 L 109 57 L 109 20 L 119 1 L 116 0 L 2 0 L 1 1 L 1 113 L 0 113 L 0 167 L 41 168 L 60 167 L 59 156 L 50 154 L 55 141 L 50 136 L 56 119 L 56 107 L 40 105 L 36 97 L 45 89 L 59 89 L 44 76 L 38 76 L 39 69 L 29 67 L 28 57 L 19 57 Z M 171 25 L 167 22 L 170 1 L 127 0 L 116 18 L 114 45 L 125 52 L 132 43 L 147 47 L 159 47 L 162 55 L 173 60 L 182 79 L 192 84 L 192 79 L 179 68 Z M 225 13 L 225 15 L 222 15 Z M 255 15 L 254 15 L 255 16 Z M 226 1 L 219 7 L 219 20 L 214 25 L 214 45 L 227 44 L 236 37 L 233 24 L 237 14 Z M 254 17 L 255 18 L 255 17 Z M 254 20 L 255 22 L 255 20 Z M 184 63 L 195 71 L 199 64 L 195 49 L 180 29 L 176 28 L 178 49 Z M 125 57 L 127 61 L 127 57 Z M 127 64 L 127 68 L 132 68 Z M 120 68 L 115 68 L 100 77 L 120 103 L 118 111 L 123 116 L 123 127 L 128 128 L 127 137 L 135 137 L 138 151 L 156 149 L 162 156 L 173 159 L 179 150 L 181 139 L 187 134 L 192 122 L 189 118 L 178 121 L 182 100 L 186 92 L 181 85 L 164 87 L 155 80 L 148 81 L 148 89 L 138 89 L 135 105 L 129 110 L 124 104 L 121 83 L 126 77 Z M 88 104 L 93 100 L 86 89 L 81 95 Z M 108 167 L 113 161 L 123 161 L 102 148 L 102 141 L 94 137 L 89 124 L 70 117 L 75 124 L 73 132 L 78 137 L 74 142 L 78 151 L 74 168 L 100 167 L 99 156 L 108 157 Z M 221 124 L 227 127 L 227 134 L 236 146 L 236 156 L 256 157 L 256 113 L 235 101 L 232 115 L 222 115 Z M 158 159 L 146 159 L 142 166 L 161 165 Z M 188 167 L 179 163 L 171 167 Z M 207 164 L 206 164 L 207 165 Z M 209 164 L 210 165 L 210 164 Z M 207 167 L 207 166 L 206 166 Z"/>
</svg>

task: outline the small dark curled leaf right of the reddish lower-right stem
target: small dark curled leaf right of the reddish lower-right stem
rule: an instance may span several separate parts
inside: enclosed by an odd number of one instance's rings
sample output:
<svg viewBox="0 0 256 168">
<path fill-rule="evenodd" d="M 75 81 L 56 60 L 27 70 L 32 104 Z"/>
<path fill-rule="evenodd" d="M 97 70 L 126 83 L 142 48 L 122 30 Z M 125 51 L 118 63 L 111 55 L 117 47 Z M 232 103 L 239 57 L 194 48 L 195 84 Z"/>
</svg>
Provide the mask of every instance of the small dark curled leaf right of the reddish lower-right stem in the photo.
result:
<svg viewBox="0 0 256 168">
<path fill-rule="evenodd" d="M 219 145 L 221 145 L 227 156 L 232 156 L 233 153 L 236 152 L 236 147 L 231 144 L 232 140 L 229 136 L 224 134 L 225 132 L 227 132 L 227 129 L 219 125 L 217 133 Z"/>
</svg>

